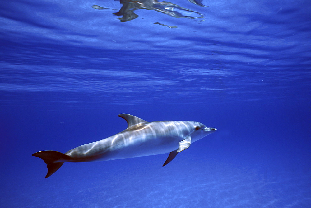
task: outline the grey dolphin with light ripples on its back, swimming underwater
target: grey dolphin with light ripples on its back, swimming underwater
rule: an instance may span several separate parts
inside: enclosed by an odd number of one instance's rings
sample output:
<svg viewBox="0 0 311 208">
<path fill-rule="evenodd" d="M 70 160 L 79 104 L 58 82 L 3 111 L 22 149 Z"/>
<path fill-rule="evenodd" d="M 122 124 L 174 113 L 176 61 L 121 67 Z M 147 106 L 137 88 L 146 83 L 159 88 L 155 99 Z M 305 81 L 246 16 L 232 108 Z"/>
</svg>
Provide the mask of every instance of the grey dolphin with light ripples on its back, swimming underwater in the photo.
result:
<svg viewBox="0 0 311 208">
<path fill-rule="evenodd" d="M 128 128 L 116 135 L 84 144 L 65 154 L 50 150 L 32 154 L 47 164 L 45 178 L 55 173 L 64 162 L 106 161 L 169 153 L 165 166 L 191 143 L 216 131 L 216 128 L 195 121 L 147 122 L 130 114 L 118 116 L 127 121 Z"/>
</svg>

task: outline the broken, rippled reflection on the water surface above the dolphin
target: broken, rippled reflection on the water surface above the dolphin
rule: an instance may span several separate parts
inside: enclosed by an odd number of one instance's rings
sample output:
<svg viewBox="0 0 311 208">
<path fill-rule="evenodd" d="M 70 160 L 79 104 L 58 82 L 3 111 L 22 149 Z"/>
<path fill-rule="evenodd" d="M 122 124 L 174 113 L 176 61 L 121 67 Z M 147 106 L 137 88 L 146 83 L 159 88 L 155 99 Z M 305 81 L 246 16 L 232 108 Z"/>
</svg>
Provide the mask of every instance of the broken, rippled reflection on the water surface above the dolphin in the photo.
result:
<svg viewBox="0 0 311 208">
<path fill-rule="evenodd" d="M 200 0 L 188 0 L 189 2 L 196 4 L 201 7 L 206 7 L 202 4 Z M 123 5 L 118 12 L 114 14 L 117 16 L 122 16 L 118 18 L 121 22 L 126 22 L 133 20 L 138 17 L 137 14 L 134 13 L 137 9 L 147 9 L 147 10 L 155 10 L 157 12 L 161 12 L 176 18 L 203 18 L 204 16 L 196 11 L 186 9 L 180 7 L 176 4 L 169 2 L 158 2 L 156 0 L 120 0 L 120 3 Z M 93 5 L 95 9 L 105 9 L 104 7 Z"/>
</svg>

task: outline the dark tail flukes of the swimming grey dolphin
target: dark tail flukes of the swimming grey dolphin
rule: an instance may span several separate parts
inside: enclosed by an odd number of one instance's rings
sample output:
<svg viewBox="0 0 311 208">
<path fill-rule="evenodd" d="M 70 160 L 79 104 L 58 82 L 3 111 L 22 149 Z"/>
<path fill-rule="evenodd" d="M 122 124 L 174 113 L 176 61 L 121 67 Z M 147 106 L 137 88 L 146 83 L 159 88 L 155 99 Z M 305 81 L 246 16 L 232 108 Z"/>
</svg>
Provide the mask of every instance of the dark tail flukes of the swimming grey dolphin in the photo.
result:
<svg viewBox="0 0 311 208">
<path fill-rule="evenodd" d="M 32 154 L 32 156 L 43 159 L 44 163 L 47 164 L 48 173 L 45 178 L 48 178 L 50 175 L 55 173 L 63 165 L 63 161 L 70 160 L 70 156 L 58 151 L 40 151 Z"/>
</svg>

